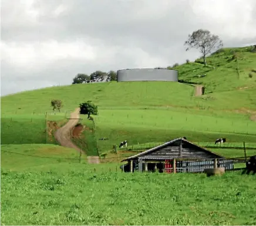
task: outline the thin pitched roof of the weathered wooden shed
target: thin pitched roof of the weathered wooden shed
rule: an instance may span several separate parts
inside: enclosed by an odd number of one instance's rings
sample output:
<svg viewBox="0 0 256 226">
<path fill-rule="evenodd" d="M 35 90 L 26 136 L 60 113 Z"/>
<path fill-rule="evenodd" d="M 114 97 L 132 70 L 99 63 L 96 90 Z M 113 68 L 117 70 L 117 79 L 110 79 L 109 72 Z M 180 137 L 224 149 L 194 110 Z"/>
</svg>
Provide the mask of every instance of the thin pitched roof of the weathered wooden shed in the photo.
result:
<svg viewBox="0 0 256 226">
<path fill-rule="evenodd" d="M 134 158 L 137 158 L 137 157 L 140 157 L 140 156 L 144 156 L 145 154 L 150 153 L 151 151 L 160 149 L 161 147 L 168 146 L 169 144 L 174 143 L 174 142 L 176 142 L 176 141 L 178 141 L 178 140 L 183 140 L 184 142 L 187 142 L 187 143 L 189 143 L 189 144 L 192 144 L 193 146 L 198 147 L 199 149 L 203 150 L 204 152 L 213 154 L 213 155 L 214 155 L 215 157 L 217 157 L 217 158 L 224 158 L 224 156 L 220 156 L 219 154 L 216 154 L 216 153 L 214 153 L 213 151 L 204 149 L 203 147 L 200 147 L 200 146 L 198 146 L 197 144 L 194 144 L 194 143 L 192 143 L 192 142 L 190 142 L 190 141 L 188 141 L 188 140 L 183 139 L 183 137 L 180 137 L 180 138 L 177 138 L 177 139 L 174 139 L 174 140 L 170 140 L 170 141 L 168 141 L 168 142 L 166 142 L 166 143 L 160 144 L 159 146 L 153 147 L 152 149 L 143 151 L 142 153 L 135 154 L 134 156 L 130 156 L 130 157 L 128 157 L 128 158 L 124 158 L 122 161 L 132 160 L 132 159 L 134 159 Z"/>
</svg>

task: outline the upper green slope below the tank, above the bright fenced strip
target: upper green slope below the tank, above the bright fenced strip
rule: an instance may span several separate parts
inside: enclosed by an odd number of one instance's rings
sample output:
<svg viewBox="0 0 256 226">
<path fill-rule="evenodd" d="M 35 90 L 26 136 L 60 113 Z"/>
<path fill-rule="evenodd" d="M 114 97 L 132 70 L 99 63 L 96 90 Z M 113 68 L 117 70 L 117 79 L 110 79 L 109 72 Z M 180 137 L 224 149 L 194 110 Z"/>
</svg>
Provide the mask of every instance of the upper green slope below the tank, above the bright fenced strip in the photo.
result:
<svg viewBox="0 0 256 226">
<path fill-rule="evenodd" d="M 176 82 L 79 84 L 1 97 L 2 114 L 49 112 L 52 99 L 63 101 L 63 111 L 73 111 L 84 100 L 92 100 L 99 109 L 186 107 L 214 110 L 243 108 L 244 112 L 246 109 L 256 110 L 256 53 L 249 50 L 221 50 L 207 58 L 206 68 L 201 63 L 186 63 L 174 68 L 178 70 L 180 79 L 206 86 L 206 95 L 201 97 L 193 96 L 193 86 Z M 206 76 L 198 77 L 201 75 Z"/>
</svg>

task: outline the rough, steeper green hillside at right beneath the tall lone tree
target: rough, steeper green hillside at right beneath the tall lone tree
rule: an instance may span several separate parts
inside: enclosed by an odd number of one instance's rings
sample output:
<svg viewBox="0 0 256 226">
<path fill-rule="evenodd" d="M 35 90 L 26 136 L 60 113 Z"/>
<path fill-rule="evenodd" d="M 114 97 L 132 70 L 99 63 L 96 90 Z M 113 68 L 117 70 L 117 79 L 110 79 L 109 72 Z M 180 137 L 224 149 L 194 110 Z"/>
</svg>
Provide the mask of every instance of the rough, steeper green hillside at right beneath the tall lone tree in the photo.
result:
<svg viewBox="0 0 256 226">
<path fill-rule="evenodd" d="M 224 48 L 207 58 L 177 66 L 179 78 L 203 83 L 206 93 L 256 87 L 256 53 L 250 47 Z"/>
</svg>

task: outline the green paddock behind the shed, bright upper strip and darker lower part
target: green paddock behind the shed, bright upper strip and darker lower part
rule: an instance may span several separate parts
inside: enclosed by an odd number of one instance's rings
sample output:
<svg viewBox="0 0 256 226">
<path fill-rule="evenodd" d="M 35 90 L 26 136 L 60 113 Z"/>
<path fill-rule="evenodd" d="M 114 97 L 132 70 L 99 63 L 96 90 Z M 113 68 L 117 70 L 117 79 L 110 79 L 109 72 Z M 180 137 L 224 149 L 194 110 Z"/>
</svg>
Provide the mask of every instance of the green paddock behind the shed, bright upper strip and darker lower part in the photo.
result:
<svg viewBox="0 0 256 226">
<path fill-rule="evenodd" d="M 100 153 L 112 150 L 113 145 L 127 140 L 130 149 L 137 144 L 164 143 L 186 136 L 189 141 L 202 145 L 227 137 L 228 143 L 256 140 L 256 124 L 243 116 L 202 116 L 196 113 L 171 110 L 102 110 L 95 117 Z M 106 137 L 109 140 L 99 140 Z"/>
</svg>

